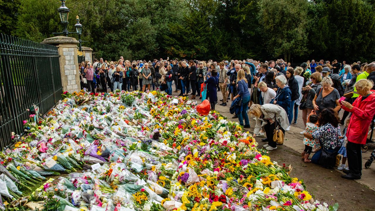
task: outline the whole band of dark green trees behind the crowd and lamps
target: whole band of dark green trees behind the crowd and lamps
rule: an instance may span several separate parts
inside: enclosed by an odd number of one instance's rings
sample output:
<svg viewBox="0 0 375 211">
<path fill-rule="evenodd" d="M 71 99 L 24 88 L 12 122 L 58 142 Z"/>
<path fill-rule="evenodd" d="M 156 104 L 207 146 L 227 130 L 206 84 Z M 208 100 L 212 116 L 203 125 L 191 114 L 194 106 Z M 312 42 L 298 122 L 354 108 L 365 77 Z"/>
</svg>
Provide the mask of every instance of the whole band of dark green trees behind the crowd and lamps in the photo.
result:
<svg viewBox="0 0 375 211">
<path fill-rule="evenodd" d="M 0 32 L 41 42 L 62 32 L 58 0 L 0 0 Z M 117 60 L 375 59 L 373 0 L 67 0 L 69 31 Z M 76 35 L 69 35 L 75 36 Z"/>
</svg>

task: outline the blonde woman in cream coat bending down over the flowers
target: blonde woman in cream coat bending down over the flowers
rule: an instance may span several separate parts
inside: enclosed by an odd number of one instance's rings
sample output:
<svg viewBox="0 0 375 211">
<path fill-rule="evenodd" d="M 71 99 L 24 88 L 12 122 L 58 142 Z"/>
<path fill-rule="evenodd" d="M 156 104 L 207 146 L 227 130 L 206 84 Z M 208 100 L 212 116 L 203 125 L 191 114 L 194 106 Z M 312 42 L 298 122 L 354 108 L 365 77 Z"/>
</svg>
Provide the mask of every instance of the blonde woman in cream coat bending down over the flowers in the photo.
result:
<svg viewBox="0 0 375 211">
<path fill-rule="evenodd" d="M 277 149 L 276 142 L 273 141 L 273 131 L 276 128 L 275 122 L 277 121 L 280 124 L 282 132 L 285 133 L 285 129 L 289 126 L 287 112 L 277 104 L 253 104 L 249 109 L 249 113 L 263 122 L 262 126 L 264 126 L 268 139 L 268 144 L 263 145 L 263 147 L 267 150 Z"/>
</svg>

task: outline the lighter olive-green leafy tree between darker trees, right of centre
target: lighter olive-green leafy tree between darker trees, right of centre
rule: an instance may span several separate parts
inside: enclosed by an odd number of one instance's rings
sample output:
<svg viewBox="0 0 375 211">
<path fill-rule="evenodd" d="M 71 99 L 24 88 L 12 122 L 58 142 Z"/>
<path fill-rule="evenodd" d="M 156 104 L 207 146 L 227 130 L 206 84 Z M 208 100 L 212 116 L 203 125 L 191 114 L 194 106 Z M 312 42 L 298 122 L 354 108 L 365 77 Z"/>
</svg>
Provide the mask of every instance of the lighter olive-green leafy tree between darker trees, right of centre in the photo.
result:
<svg viewBox="0 0 375 211">
<path fill-rule="evenodd" d="M 275 57 L 283 55 L 286 61 L 290 61 L 291 55 L 307 54 L 307 9 L 306 0 L 263 0 L 260 23 L 269 53 Z"/>
</svg>

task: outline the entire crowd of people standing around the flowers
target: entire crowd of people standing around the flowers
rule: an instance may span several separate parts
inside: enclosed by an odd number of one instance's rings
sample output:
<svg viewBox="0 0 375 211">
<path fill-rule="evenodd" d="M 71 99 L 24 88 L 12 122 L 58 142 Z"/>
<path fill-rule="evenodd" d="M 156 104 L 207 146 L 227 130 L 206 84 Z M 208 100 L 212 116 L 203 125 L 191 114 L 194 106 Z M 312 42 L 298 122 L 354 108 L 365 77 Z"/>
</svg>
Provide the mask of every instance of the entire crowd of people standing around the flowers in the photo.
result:
<svg viewBox="0 0 375 211">
<path fill-rule="evenodd" d="M 218 101 L 222 106 L 230 101 L 231 109 L 238 108 L 233 118 L 238 118 L 244 128 L 250 128 L 248 113 L 255 117 L 253 136 L 266 135 L 262 141 L 267 142 L 267 150 L 277 149 L 274 130 L 289 131 L 302 110 L 306 128 L 300 133 L 305 136 L 303 161 L 327 165 L 327 154 L 340 153 L 345 159 L 338 169 L 347 173 L 343 177 L 361 176 L 360 149 L 375 114 L 375 62 L 312 60 L 293 68 L 282 59 L 264 63 L 252 59 L 216 62 L 169 58 L 130 62 L 120 57 L 114 62 L 102 58 L 94 59 L 94 63 L 82 62 L 79 68 L 81 89 L 94 93 L 138 90 L 139 85 L 142 92 L 152 87 L 169 95 L 176 92 L 187 97 L 190 93 L 189 99 L 201 99 L 202 90 L 207 89 L 212 110 Z M 218 99 L 218 92 L 222 99 Z M 344 113 L 340 119 L 341 110 Z M 344 135 L 339 124 L 346 124 Z M 315 154 L 310 160 L 312 152 Z"/>
</svg>

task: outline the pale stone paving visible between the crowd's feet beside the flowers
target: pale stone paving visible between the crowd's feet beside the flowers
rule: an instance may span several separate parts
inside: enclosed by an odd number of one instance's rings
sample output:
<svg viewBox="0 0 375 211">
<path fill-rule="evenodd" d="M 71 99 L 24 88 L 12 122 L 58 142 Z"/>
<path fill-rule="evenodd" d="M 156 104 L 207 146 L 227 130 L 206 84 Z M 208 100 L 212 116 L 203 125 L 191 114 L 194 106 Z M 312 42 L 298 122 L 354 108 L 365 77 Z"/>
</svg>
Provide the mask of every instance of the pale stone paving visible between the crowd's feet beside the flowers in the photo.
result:
<svg viewBox="0 0 375 211">
<path fill-rule="evenodd" d="M 178 94 L 179 93 L 173 92 L 173 95 L 178 95 Z M 217 97 L 218 97 L 219 100 L 222 99 L 221 92 L 217 92 L 217 95 L 218 95 Z M 199 100 L 198 98 L 196 98 L 195 101 L 198 102 L 198 103 L 201 102 L 201 100 Z M 231 101 L 229 99 L 229 102 L 227 103 L 227 106 L 224 107 L 224 106 L 220 106 L 220 105 L 215 105 L 215 109 L 217 111 L 219 111 L 220 114 L 222 114 L 223 116 L 228 118 L 230 121 L 238 122 L 238 118 L 237 119 L 231 119 L 233 115 L 231 113 L 229 113 L 230 103 L 231 103 Z M 342 116 L 342 113 L 343 112 L 341 111 L 340 116 Z M 252 116 L 249 116 L 249 120 L 250 120 L 250 125 L 251 125 L 251 128 L 249 128 L 249 131 L 252 132 L 254 130 L 254 127 L 255 127 L 255 121 L 253 120 Z M 299 112 L 297 122 L 298 122 L 297 125 L 294 125 L 292 123 L 290 131 L 287 131 L 285 133 L 284 146 L 286 146 L 290 149 L 293 149 L 294 151 L 296 151 L 298 153 L 301 153 L 305 149 L 305 145 L 302 143 L 303 135 L 299 134 L 302 131 L 301 129 L 304 129 L 301 112 Z M 370 145 L 370 146 L 374 146 L 374 145 Z M 259 147 L 261 147 L 261 146 L 259 146 Z M 375 162 L 374 162 L 374 164 L 372 164 L 372 166 L 369 169 L 365 169 L 365 167 L 364 167 L 365 162 L 369 159 L 370 154 L 373 150 L 374 150 L 374 147 L 369 147 L 369 150 L 362 154 L 362 158 L 363 158 L 363 160 L 362 160 L 362 165 L 363 165 L 362 178 L 357 180 L 357 182 L 359 182 L 363 185 L 366 185 L 367 187 L 369 187 L 372 190 L 375 190 Z M 276 150 L 272 151 L 271 153 L 272 154 L 278 154 L 278 153 L 280 153 L 280 151 L 278 151 L 276 149 Z M 315 164 L 306 164 L 306 165 L 315 165 Z M 335 167 L 334 170 L 336 171 L 338 183 L 344 184 L 347 180 L 341 178 L 342 172 L 337 170 L 337 167 Z M 319 173 L 318 169 L 317 169 L 316 173 Z"/>
</svg>

